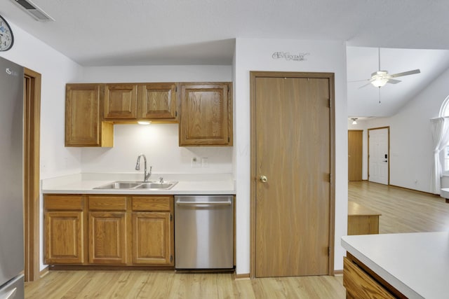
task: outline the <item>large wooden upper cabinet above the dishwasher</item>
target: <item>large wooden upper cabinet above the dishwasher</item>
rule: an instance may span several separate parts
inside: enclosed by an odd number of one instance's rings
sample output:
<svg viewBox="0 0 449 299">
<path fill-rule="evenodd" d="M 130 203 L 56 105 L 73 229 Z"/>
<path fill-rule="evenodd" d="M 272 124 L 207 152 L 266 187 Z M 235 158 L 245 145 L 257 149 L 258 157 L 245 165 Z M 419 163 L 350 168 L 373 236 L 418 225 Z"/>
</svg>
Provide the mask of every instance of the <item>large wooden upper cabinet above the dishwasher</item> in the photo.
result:
<svg viewBox="0 0 449 299">
<path fill-rule="evenodd" d="M 232 83 L 180 83 L 180 146 L 232 146 Z"/>
</svg>

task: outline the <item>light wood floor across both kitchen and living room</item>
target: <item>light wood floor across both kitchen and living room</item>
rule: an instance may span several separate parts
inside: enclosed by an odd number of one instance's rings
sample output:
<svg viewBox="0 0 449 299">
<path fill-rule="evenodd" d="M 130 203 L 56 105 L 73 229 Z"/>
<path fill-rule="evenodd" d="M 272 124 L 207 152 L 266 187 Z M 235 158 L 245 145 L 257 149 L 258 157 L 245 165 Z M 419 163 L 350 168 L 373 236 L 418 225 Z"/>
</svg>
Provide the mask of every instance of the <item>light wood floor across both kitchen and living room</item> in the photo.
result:
<svg viewBox="0 0 449 299">
<path fill-rule="evenodd" d="M 349 200 L 380 211 L 380 233 L 449 230 L 439 196 L 350 182 Z M 25 284 L 25 298 L 345 298 L 342 276 L 234 279 L 173 271 L 50 271 Z"/>
</svg>

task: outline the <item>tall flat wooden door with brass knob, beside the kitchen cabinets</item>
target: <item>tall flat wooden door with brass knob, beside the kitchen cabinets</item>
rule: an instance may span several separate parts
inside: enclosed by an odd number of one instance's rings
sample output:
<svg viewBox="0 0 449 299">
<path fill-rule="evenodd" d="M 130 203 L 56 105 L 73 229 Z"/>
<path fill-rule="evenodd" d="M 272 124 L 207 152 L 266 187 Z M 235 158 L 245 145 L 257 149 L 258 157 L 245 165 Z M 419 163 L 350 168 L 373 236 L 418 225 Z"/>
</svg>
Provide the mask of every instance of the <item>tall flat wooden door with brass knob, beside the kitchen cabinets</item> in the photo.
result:
<svg viewBox="0 0 449 299">
<path fill-rule="evenodd" d="M 333 74 L 253 73 L 255 277 L 330 274 Z"/>
</svg>

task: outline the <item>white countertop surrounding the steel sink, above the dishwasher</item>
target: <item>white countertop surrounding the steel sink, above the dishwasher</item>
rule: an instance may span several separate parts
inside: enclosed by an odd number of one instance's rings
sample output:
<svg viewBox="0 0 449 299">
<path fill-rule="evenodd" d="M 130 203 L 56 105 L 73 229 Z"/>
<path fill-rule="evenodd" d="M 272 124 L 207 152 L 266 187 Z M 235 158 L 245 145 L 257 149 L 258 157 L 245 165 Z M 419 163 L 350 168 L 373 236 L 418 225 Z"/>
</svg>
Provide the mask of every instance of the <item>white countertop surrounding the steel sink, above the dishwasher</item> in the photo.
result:
<svg viewBox="0 0 449 299">
<path fill-rule="evenodd" d="M 94 189 L 113 181 L 142 181 L 143 174 L 71 174 L 41 181 L 42 193 L 64 194 L 140 194 L 140 195 L 234 195 L 232 174 L 153 174 L 149 181 L 177 181 L 168 190 Z"/>
</svg>

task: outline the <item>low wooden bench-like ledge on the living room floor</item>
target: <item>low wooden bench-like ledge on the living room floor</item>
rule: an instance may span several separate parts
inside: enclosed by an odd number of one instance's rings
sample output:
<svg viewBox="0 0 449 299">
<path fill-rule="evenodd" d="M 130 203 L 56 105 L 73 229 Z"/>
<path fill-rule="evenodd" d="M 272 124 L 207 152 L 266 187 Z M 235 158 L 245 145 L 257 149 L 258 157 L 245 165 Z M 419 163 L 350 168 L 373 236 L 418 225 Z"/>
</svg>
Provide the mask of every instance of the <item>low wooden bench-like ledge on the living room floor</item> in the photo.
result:
<svg viewBox="0 0 449 299">
<path fill-rule="evenodd" d="M 379 233 L 377 211 L 363 207 L 356 202 L 348 202 L 348 235 L 372 235 Z"/>
</svg>

